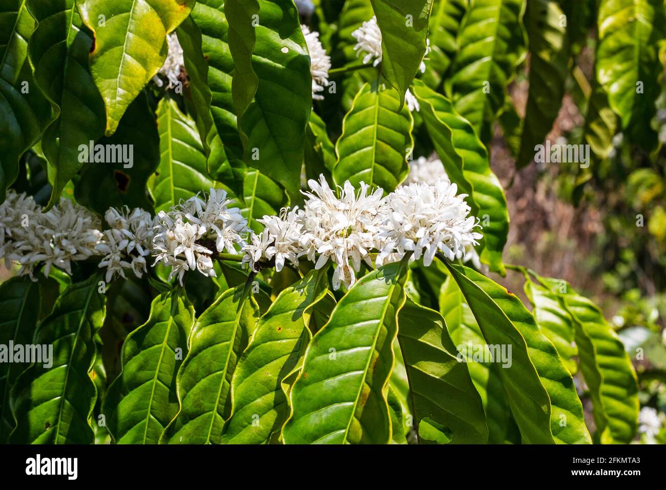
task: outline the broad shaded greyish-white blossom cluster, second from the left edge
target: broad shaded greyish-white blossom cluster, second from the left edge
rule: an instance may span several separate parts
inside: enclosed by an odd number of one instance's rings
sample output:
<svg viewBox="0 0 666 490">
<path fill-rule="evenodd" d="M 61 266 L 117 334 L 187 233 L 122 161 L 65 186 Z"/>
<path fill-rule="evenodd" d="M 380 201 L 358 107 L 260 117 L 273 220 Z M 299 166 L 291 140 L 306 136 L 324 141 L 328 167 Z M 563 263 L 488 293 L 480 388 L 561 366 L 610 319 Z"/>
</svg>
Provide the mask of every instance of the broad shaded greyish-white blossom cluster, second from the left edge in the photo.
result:
<svg viewBox="0 0 666 490">
<path fill-rule="evenodd" d="M 100 227 L 99 218 L 85 207 L 61 199 L 29 227 L 29 237 L 20 245 L 25 253 L 19 261 L 23 266 L 20 273 L 32 275 L 35 265 L 43 262 L 45 275 L 53 265 L 71 274 L 73 261 L 99 255 L 95 247 L 102 239 Z"/>
</svg>

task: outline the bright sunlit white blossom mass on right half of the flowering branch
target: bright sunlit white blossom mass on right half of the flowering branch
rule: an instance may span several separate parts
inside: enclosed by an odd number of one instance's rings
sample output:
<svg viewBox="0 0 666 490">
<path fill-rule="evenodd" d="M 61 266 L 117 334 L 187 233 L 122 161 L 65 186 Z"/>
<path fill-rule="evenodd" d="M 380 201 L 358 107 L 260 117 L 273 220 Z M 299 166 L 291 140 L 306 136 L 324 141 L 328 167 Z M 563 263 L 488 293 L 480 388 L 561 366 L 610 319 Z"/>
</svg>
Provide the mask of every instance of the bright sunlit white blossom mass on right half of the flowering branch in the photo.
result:
<svg viewBox="0 0 666 490">
<path fill-rule="evenodd" d="M 441 165 L 441 164 L 440 164 Z M 470 217 L 466 195 L 456 195 L 455 184 L 440 179 L 434 185 L 410 183 L 382 197 L 380 188 L 370 192 L 347 181 L 334 192 L 322 175 L 308 181 L 304 209 L 282 209 L 280 217 L 264 217 L 266 229 L 252 235 L 244 247 L 243 262 L 254 271 L 262 264 L 288 260 L 298 265 L 307 257 L 320 269 L 336 265 L 333 287 L 350 287 L 364 261 L 370 267 L 399 261 L 411 253 L 410 261 L 424 255 L 429 265 L 437 251 L 449 259 L 470 258 L 482 235 L 474 229 L 478 220 Z"/>
</svg>

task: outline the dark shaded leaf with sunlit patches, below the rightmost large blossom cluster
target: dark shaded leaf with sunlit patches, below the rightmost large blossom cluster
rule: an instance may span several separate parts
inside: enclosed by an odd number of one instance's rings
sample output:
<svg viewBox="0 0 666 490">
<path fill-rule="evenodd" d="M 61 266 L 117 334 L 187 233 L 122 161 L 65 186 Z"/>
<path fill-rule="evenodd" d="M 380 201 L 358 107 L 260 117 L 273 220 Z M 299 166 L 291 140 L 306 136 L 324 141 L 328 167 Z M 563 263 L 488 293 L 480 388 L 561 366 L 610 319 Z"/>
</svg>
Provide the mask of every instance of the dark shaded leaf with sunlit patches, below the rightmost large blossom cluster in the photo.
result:
<svg viewBox="0 0 666 490">
<path fill-rule="evenodd" d="M 488 439 L 481 398 L 437 311 L 407 299 L 398 314 L 398 342 L 410 382 L 414 422 L 442 424 L 454 444 Z"/>
</svg>

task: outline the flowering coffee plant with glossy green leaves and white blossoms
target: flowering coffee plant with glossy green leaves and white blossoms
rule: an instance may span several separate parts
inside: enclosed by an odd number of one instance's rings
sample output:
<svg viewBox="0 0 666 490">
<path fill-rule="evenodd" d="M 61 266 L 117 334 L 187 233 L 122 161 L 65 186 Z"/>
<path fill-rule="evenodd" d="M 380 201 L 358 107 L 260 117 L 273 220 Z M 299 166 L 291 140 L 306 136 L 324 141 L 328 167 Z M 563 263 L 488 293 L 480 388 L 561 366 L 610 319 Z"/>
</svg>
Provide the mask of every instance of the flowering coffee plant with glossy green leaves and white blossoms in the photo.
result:
<svg viewBox="0 0 666 490">
<path fill-rule="evenodd" d="M 664 61 L 663 0 L 0 0 L 0 442 L 630 443 L 490 153 L 657 161 Z"/>
</svg>

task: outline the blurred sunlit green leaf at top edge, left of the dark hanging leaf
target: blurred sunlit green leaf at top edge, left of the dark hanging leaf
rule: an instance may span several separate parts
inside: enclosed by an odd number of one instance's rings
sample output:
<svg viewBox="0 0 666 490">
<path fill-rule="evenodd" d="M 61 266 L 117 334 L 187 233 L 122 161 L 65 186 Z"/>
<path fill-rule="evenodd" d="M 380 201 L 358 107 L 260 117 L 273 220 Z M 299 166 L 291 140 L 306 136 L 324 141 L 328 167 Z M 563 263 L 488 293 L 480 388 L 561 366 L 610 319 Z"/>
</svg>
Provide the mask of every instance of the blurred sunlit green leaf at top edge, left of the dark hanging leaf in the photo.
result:
<svg viewBox="0 0 666 490">
<path fill-rule="evenodd" d="M 524 8 L 523 0 L 474 0 L 458 32 L 460 50 L 446 90 L 484 143 L 525 57 Z"/>
</svg>

